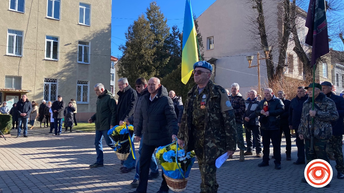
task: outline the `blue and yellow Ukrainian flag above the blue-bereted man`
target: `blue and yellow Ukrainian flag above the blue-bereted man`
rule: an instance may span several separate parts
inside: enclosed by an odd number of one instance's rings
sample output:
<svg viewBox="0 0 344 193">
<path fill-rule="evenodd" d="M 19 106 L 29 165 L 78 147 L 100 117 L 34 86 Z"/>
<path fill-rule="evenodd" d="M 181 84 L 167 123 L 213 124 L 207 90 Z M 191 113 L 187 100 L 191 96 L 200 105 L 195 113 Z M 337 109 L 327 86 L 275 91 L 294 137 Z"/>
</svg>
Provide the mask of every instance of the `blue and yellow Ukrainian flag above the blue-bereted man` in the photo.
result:
<svg viewBox="0 0 344 193">
<path fill-rule="evenodd" d="M 198 61 L 196 29 L 193 22 L 191 2 L 186 0 L 183 26 L 182 82 L 189 81 L 193 65 Z"/>
</svg>

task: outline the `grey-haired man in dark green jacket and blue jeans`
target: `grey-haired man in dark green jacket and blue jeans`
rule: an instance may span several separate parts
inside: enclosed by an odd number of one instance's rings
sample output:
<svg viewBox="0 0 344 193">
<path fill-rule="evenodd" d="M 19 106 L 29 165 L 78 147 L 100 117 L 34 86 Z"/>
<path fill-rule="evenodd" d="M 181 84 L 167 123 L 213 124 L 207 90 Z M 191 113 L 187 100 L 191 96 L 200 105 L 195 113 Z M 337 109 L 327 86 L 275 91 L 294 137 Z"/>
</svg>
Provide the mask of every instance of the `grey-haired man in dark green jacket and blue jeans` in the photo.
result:
<svg viewBox="0 0 344 193">
<path fill-rule="evenodd" d="M 95 122 L 96 138 L 94 145 L 96 146 L 97 161 L 90 165 L 90 168 L 101 167 L 103 165 L 103 145 L 101 140 L 105 139 L 106 144 L 114 149 L 115 142 L 107 135 L 110 128 L 116 125 L 117 104 L 111 92 L 104 88 L 104 85 L 98 83 L 94 86 L 94 91 L 98 96 L 96 103 L 96 113 L 88 120 L 88 123 Z"/>
</svg>

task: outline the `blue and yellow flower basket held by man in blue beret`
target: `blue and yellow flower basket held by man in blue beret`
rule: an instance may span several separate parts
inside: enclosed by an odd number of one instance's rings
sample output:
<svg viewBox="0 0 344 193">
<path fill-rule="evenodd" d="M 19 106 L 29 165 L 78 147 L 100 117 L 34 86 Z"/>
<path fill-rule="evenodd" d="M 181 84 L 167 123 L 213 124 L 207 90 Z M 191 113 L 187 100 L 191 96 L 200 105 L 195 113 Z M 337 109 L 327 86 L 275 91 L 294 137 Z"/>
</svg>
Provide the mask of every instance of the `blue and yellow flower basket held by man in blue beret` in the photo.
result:
<svg viewBox="0 0 344 193">
<path fill-rule="evenodd" d="M 184 191 L 190 170 L 195 162 L 195 152 L 187 152 L 178 146 L 177 141 L 158 147 L 155 157 L 159 160 L 169 188 L 174 192 Z"/>
</svg>

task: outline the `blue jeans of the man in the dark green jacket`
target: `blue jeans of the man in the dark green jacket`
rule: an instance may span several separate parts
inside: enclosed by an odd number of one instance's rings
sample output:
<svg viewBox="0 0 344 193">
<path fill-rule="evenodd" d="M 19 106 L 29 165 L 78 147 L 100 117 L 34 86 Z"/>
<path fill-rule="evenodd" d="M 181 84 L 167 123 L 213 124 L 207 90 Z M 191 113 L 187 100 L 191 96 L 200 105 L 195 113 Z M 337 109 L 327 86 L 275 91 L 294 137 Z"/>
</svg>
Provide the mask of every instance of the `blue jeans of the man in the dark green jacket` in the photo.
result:
<svg viewBox="0 0 344 193">
<path fill-rule="evenodd" d="M 94 139 L 94 145 L 96 146 L 96 152 L 97 152 L 97 162 L 98 163 L 104 163 L 103 159 L 103 145 L 101 144 L 101 140 L 103 140 L 103 136 L 105 139 L 106 144 L 111 148 L 114 149 L 115 147 L 115 141 L 113 141 L 108 135 L 107 130 L 96 130 L 96 137 Z"/>
</svg>

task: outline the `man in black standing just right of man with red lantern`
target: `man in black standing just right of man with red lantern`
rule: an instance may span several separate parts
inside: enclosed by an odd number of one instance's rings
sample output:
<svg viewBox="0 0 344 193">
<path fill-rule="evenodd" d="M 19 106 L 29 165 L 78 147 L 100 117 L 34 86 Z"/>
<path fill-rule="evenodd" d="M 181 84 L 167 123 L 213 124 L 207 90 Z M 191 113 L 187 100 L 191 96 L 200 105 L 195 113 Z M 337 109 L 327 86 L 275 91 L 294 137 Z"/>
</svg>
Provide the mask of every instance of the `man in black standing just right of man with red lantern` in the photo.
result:
<svg viewBox="0 0 344 193">
<path fill-rule="evenodd" d="M 286 93 L 284 91 L 278 91 L 277 97 L 282 100 L 284 104 L 284 112 L 280 115 L 280 136 L 281 136 L 281 142 L 282 142 L 282 132 L 284 133 L 284 136 L 286 137 L 286 154 L 287 154 L 287 161 L 291 161 L 291 133 L 288 123 L 288 117 L 289 117 L 289 106 L 290 106 L 290 100 L 286 99 Z"/>
</svg>

